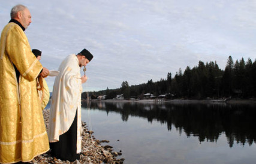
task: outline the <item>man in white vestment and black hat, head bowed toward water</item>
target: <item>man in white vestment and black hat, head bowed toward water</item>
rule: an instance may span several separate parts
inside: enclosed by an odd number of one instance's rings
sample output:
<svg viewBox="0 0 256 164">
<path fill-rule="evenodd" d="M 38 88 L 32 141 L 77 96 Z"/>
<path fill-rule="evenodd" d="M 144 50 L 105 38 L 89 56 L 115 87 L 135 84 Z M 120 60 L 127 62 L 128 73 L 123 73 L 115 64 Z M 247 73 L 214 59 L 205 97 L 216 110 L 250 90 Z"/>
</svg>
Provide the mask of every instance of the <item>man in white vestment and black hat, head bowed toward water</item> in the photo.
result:
<svg viewBox="0 0 256 164">
<path fill-rule="evenodd" d="M 87 76 L 80 75 L 82 66 L 92 60 L 92 54 L 83 49 L 70 54 L 59 66 L 55 78 L 50 107 L 48 136 L 52 156 L 73 162 L 81 152 L 81 93 Z"/>
</svg>

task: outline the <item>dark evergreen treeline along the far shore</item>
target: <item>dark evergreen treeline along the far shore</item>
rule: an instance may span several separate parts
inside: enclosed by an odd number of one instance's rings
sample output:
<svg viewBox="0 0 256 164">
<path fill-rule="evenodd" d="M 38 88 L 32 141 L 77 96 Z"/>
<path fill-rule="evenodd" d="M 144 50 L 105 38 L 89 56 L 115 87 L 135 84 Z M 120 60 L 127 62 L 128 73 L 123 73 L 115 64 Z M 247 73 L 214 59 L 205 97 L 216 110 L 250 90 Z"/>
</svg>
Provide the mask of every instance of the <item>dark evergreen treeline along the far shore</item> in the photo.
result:
<svg viewBox="0 0 256 164">
<path fill-rule="evenodd" d="M 219 69 L 215 62 L 199 61 L 194 68 L 186 67 L 182 72 L 180 68 L 172 77 L 168 72 L 167 78 L 153 82 L 129 86 L 127 81 L 121 84 L 119 89 L 101 90 L 90 92 L 92 99 L 99 95 L 106 95 L 106 99 L 116 98 L 116 95 L 124 95 L 125 99 L 143 98 L 145 93 L 152 93 L 155 96 L 167 94 L 167 98 L 204 99 L 220 97 L 252 98 L 256 96 L 256 60 L 246 62 L 242 58 L 233 62 L 228 57 L 224 70 Z M 171 94 L 168 94 L 171 93 Z M 171 96 L 172 95 L 172 96 Z M 175 96 L 173 96 L 175 95 Z M 82 98 L 86 94 L 82 93 Z"/>
</svg>

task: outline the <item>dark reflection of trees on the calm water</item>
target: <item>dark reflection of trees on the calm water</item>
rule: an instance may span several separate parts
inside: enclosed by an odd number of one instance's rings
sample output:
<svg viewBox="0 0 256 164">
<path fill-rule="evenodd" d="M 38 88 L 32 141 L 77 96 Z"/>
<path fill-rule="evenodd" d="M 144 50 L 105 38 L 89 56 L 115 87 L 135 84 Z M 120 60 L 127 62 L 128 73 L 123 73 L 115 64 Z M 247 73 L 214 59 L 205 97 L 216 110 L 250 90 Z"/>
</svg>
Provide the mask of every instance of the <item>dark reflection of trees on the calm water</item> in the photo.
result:
<svg viewBox="0 0 256 164">
<path fill-rule="evenodd" d="M 230 147 L 234 142 L 251 145 L 256 142 L 255 105 L 216 104 L 140 104 L 125 102 L 92 102 L 91 109 L 107 113 L 120 113 L 126 122 L 129 116 L 143 117 L 152 122 L 172 125 L 189 136 L 197 136 L 199 141 L 216 142 L 225 133 Z"/>
</svg>

